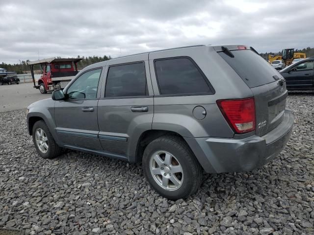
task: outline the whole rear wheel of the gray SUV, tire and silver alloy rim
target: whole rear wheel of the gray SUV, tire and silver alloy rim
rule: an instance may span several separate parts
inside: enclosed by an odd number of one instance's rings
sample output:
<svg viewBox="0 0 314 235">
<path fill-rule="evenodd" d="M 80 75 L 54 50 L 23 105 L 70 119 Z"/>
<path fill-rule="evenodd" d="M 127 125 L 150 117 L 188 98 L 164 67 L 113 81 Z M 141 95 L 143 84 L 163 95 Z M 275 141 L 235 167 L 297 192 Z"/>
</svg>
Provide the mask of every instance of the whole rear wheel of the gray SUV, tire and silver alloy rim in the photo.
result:
<svg viewBox="0 0 314 235">
<path fill-rule="evenodd" d="M 149 143 L 143 155 L 143 170 L 150 185 L 171 200 L 187 198 L 202 182 L 200 164 L 177 136 L 164 136 Z"/>
</svg>

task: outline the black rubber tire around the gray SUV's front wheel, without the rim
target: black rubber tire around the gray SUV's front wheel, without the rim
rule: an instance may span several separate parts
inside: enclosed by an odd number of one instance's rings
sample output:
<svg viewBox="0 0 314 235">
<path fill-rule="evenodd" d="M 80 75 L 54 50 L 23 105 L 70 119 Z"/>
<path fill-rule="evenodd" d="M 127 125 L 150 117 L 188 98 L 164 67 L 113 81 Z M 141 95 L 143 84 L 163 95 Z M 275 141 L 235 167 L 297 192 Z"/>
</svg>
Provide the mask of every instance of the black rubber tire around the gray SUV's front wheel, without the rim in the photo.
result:
<svg viewBox="0 0 314 235">
<path fill-rule="evenodd" d="M 43 153 L 37 143 L 36 143 L 36 139 L 35 139 L 35 135 L 36 135 L 36 130 L 38 129 L 42 129 L 44 130 L 46 137 L 48 139 L 48 151 L 46 153 Z M 35 148 L 37 150 L 37 153 L 39 154 L 39 156 L 41 156 L 42 158 L 55 158 L 57 156 L 59 156 L 61 154 L 61 150 L 62 148 L 60 148 L 54 141 L 51 132 L 49 131 L 48 126 L 46 125 L 46 123 L 43 120 L 37 121 L 35 122 L 34 126 L 33 126 L 33 132 L 32 132 L 32 138 L 33 138 L 33 142 L 35 145 Z"/>
</svg>

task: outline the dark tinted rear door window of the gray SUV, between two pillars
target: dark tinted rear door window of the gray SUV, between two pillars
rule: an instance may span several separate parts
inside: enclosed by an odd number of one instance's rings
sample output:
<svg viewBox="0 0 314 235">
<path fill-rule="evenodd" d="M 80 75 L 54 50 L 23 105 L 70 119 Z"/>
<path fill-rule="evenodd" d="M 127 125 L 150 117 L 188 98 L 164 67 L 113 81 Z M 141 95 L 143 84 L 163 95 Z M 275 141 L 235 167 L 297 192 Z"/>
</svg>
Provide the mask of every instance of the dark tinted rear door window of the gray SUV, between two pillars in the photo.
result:
<svg viewBox="0 0 314 235">
<path fill-rule="evenodd" d="M 109 67 L 105 97 L 148 95 L 144 62 Z"/>
</svg>

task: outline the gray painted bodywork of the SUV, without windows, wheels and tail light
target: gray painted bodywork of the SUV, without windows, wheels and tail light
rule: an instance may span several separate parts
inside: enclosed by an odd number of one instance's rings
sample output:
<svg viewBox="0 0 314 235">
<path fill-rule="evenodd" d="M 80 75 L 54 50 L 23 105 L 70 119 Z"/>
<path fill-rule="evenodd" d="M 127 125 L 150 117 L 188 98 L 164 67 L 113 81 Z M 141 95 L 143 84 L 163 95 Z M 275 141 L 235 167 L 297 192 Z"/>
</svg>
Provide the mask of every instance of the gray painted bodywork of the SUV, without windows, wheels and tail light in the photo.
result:
<svg viewBox="0 0 314 235">
<path fill-rule="evenodd" d="M 236 46 L 226 46 L 234 48 Z M 140 136 L 149 130 L 173 131 L 188 143 L 206 172 L 251 170 L 272 159 L 288 141 L 293 117 L 287 110 L 277 113 L 286 85 L 278 81 L 250 89 L 216 52 L 221 47 L 197 46 L 125 56 L 96 63 L 82 70 L 64 89 L 85 71 L 102 68 L 97 98 L 94 100 L 53 101 L 47 99 L 28 107 L 27 118 L 42 117 L 61 147 L 100 154 L 134 162 Z M 216 49 L 216 50 L 215 50 Z M 207 95 L 160 96 L 154 60 L 187 56 L 197 63 L 215 90 Z M 144 61 L 149 95 L 146 97 L 105 97 L 108 68 L 117 64 Z M 269 69 L 271 69 L 269 67 Z M 278 73 L 277 73 L 278 75 Z M 235 135 L 222 116 L 219 99 L 255 98 L 257 124 L 267 125 L 257 131 Z M 278 103 L 276 99 L 281 99 Z M 276 104 L 268 106 L 275 100 Z M 132 112 L 132 106 L 144 106 L 147 112 Z M 202 106 L 206 116 L 195 107 Z M 93 107 L 94 112 L 82 112 Z"/>
</svg>

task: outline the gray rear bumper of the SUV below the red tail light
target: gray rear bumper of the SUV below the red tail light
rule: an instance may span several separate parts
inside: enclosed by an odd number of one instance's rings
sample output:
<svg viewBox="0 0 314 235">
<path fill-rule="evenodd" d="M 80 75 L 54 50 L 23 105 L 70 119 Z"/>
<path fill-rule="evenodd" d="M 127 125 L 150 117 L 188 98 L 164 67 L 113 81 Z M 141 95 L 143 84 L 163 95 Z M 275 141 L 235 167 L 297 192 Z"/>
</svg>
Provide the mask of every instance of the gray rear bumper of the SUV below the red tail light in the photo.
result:
<svg viewBox="0 0 314 235">
<path fill-rule="evenodd" d="M 207 173 L 250 171 L 274 159 L 285 147 L 293 126 L 290 110 L 266 135 L 245 139 L 184 138 Z"/>
</svg>

